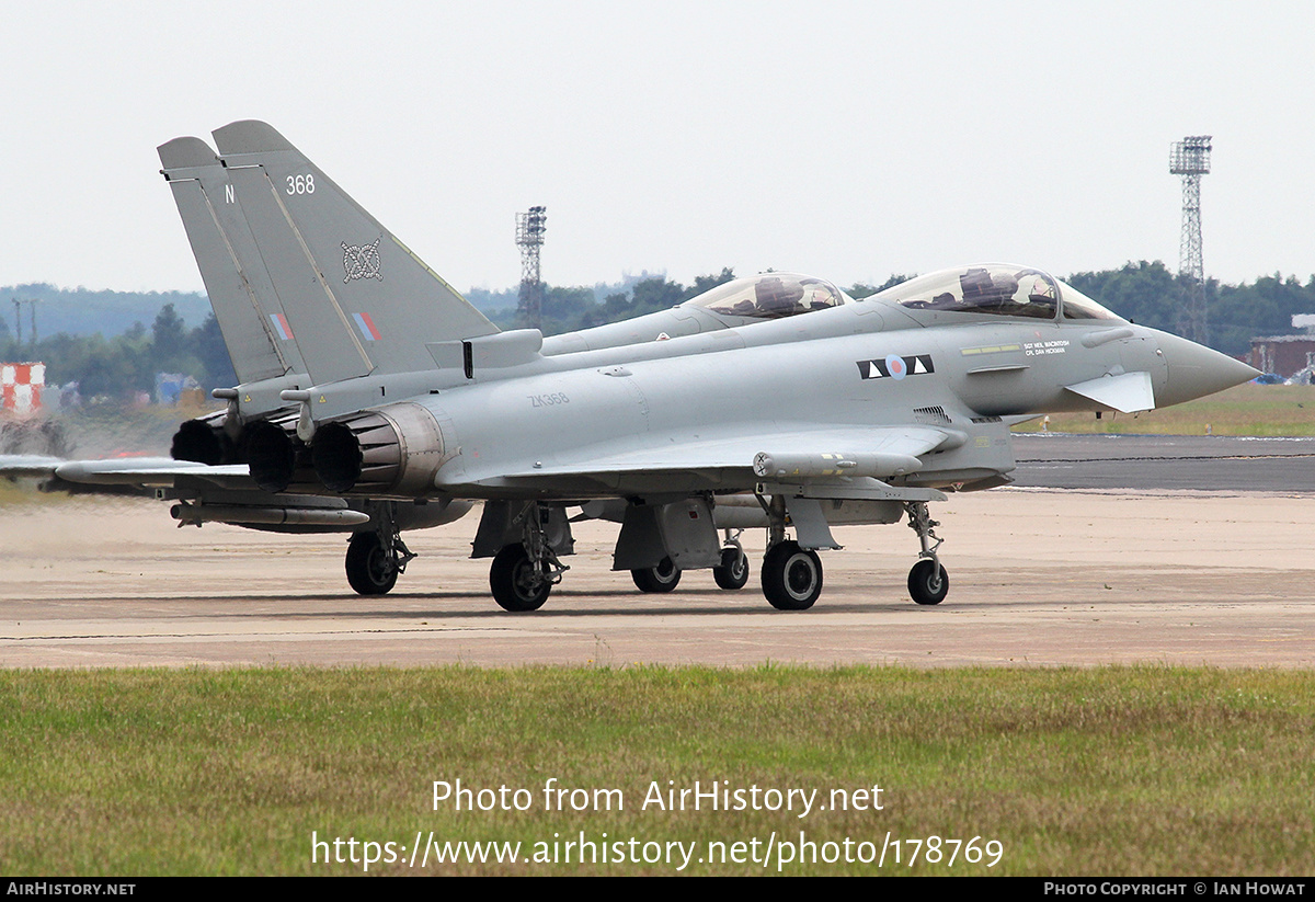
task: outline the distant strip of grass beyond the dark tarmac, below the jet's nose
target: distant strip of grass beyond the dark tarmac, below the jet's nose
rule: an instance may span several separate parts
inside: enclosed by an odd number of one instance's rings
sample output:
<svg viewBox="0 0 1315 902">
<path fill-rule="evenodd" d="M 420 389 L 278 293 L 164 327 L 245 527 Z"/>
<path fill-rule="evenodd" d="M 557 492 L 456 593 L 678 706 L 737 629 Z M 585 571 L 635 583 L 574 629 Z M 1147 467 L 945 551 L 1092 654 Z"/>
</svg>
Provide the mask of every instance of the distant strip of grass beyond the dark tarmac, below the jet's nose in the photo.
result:
<svg viewBox="0 0 1315 902">
<path fill-rule="evenodd" d="M 1052 433 L 1139 435 L 1315 435 L 1315 385 L 1236 385 L 1218 394 L 1139 414 L 1052 414 Z M 1015 426 L 1038 433 L 1040 419 Z"/>
</svg>

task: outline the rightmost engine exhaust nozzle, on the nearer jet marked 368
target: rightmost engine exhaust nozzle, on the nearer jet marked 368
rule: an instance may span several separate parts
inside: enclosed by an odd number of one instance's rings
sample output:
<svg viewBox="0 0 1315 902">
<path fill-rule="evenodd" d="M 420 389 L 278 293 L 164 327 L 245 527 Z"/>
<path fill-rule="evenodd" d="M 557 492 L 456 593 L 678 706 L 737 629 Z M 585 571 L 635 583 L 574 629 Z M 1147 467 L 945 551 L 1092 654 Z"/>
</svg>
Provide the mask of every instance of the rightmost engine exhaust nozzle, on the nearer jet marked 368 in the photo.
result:
<svg viewBox="0 0 1315 902">
<path fill-rule="evenodd" d="M 338 494 L 425 496 L 446 459 L 438 421 L 418 404 L 393 404 L 323 423 L 310 444 L 316 476 Z"/>
</svg>

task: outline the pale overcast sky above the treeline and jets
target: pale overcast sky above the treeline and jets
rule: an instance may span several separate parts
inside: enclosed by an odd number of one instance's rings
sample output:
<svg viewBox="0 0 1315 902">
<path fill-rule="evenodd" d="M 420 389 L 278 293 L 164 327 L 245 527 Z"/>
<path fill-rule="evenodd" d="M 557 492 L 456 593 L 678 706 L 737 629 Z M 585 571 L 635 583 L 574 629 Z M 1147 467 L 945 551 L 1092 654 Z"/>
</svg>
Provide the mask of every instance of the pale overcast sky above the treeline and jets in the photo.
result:
<svg viewBox="0 0 1315 902">
<path fill-rule="evenodd" d="M 1302 3 L 0 0 L 0 284 L 201 289 L 155 146 L 279 129 L 455 287 L 1007 260 L 1315 271 Z"/>
</svg>

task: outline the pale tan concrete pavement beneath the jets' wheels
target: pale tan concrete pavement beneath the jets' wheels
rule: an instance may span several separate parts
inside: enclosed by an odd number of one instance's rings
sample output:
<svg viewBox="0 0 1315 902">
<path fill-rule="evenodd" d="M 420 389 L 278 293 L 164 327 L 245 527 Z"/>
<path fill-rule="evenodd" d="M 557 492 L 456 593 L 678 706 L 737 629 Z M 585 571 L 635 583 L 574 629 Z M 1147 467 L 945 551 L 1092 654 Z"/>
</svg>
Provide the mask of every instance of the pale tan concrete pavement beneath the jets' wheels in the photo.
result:
<svg viewBox="0 0 1315 902">
<path fill-rule="evenodd" d="M 1031 442 L 1020 458 L 1057 458 Z M 163 504 L 43 498 L 0 514 L 0 665 L 1315 664 L 1315 504 L 1301 492 L 1003 489 L 932 515 L 951 577 L 936 607 L 905 592 L 903 525 L 838 529 L 822 598 L 781 613 L 756 573 L 735 593 L 702 571 L 640 594 L 609 572 L 617 527 L 585 523 L 563 585 L 513 615 L 488 594 L 488 563 L 466 558 L 473 514 L 408 534 L 421 558 L 392 594 L 362 598 L 341 536 L 180 530 Z M 756 561 L 761 536 L 747 538 Z"/>
</svg>

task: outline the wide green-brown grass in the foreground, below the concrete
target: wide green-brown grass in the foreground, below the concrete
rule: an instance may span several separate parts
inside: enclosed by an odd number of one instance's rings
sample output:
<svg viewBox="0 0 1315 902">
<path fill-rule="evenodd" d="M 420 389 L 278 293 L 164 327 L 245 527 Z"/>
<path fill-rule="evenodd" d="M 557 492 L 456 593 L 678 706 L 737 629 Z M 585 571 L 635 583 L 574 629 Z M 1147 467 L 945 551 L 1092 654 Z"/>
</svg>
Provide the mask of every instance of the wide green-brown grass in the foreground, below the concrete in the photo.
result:
<svg viewBox="0 0 1315 902">
<path fill-rule="evenodd" d="M 359 873 L 310 835 L 999 840 L 993 869 L 1315 872 L 1315 675 L 1178 668 L 426 668 L 0 672 L 5 874 Z M 625 810 L 546 813 L 542 789 Z M 431 784 L 525 788 L 517 811 L 433 810 Z M 640 810 L 651 781 L 853 790 L 881 811 Z M 775 869 L 769 868 L 769 872 Z M 444 865 L 430 873 L 671 873 Z M 763 873 L 692 864 L 693 873 Z M 409 873 L 401 864 L 371 873 Z M 790 864 L 786 873 L 873 873 Z M 882 873 L 909 873 L 886 863 Z"/>
</svg>

